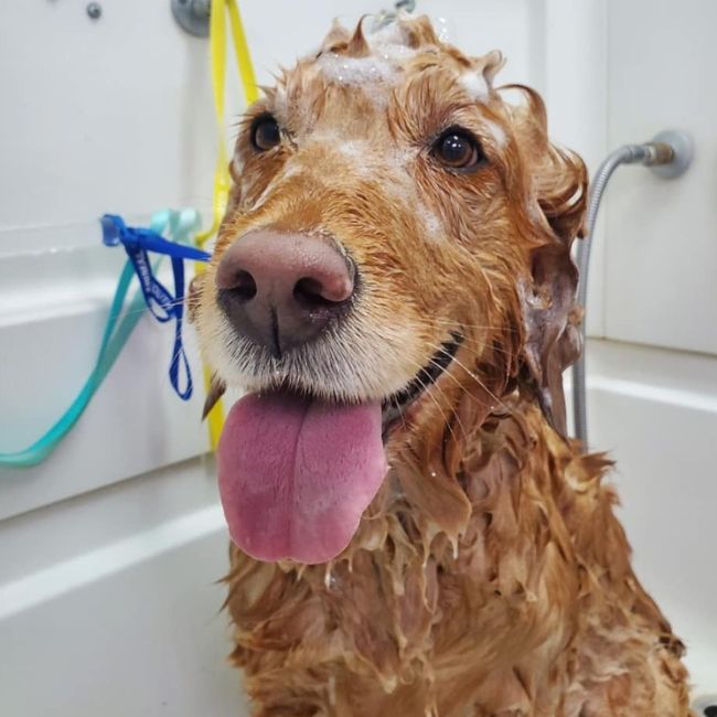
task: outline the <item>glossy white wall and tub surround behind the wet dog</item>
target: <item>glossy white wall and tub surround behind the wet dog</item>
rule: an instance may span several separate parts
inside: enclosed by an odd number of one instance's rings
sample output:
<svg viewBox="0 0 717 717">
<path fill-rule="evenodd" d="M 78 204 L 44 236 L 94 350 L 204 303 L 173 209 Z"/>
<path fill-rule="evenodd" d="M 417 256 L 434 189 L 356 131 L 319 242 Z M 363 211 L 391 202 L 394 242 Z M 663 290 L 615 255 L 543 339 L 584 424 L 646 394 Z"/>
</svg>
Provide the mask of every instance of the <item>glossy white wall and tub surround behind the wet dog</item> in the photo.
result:
<svg viewBox="0 0 717 717">
<path fill-rule="evenodd" d="M 332 17 L 385 6 L 240 4 L 260 82 Z M 13 3 L 0 23 L 0 450 L 50 425 L 92 365 L 121 266 L 96 217 L 210 206 L 206 41 L 176 29 L 169 1 L 105 0 L 97 22 L 85 6 Z M 638 567 L 687 639 L 695 681 L 717 692 L 717 6 L 676 7 L 419 0 L 461 47 L 502 49 L 504 79 L 545 94 L 555 136 L 591 168 L 663 126 L 695 133 L 698 163 L 679 184 L 629 168 L 610 189 L 591 277 L 591 442 L 618 459 Z M 182 404 L 167 381 L 168 333 L 142 320 L 53 458 L 0 469 L 3 715 L 235 714 L 213 585 L 226 535 L 201 397 Z"/>
</svg>

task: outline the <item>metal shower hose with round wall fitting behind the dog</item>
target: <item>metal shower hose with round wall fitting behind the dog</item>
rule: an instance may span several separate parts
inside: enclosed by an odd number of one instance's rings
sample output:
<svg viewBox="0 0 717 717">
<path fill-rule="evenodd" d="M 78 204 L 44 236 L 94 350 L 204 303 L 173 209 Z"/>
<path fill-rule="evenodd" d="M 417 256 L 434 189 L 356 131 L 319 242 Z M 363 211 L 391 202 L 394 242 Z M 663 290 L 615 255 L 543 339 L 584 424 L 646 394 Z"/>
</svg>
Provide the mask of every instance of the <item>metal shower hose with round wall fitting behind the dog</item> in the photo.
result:
<svg viewBox="0 0 717 717">
<path fill-rule="evenodd" d="M 578 244 L 576 260 L 579 269 L 578 304 L 585 313 L 580 332 L 582 334 L 582 353 L 572 365 L 572 417 L 575 437 L 588 446 L 588 417 L 586 397 L 586 320 L 588 302 L 588 275 L 590 270 L 590 250 L 595 243 L 595 226 L 598 221 L 598 210 L 602 194 L 608 186 L 612 173 L 620 164 L 643 164 L 663 179 L 682 176 L 693 159 L 692 139 L 685 132 L 668 129 L 660 132 L 652 141 L 644 145 L 624 145 L 616 149 L 602 161 L 590 183 L 588 197 L 588 215 L 586 220 L 586 236 Z M 710 717 L 717 717 L 717 711 Z"/>
</svg>

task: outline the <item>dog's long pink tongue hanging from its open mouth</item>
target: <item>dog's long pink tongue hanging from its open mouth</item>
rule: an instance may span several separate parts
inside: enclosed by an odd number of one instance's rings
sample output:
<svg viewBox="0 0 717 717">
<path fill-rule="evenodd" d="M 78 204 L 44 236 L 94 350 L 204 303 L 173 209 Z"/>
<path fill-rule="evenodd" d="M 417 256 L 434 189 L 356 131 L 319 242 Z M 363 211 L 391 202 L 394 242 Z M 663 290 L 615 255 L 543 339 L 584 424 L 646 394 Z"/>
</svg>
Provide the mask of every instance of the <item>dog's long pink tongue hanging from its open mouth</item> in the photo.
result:
<svg viewBox="0 0 717 717">
<path fill-rule="evenodd" d="M 381 405 L 250 394 L 217 452 L 232 539 L 259 560 L 324 563 L 349 545 L 386 473 Z"/>
</svg>

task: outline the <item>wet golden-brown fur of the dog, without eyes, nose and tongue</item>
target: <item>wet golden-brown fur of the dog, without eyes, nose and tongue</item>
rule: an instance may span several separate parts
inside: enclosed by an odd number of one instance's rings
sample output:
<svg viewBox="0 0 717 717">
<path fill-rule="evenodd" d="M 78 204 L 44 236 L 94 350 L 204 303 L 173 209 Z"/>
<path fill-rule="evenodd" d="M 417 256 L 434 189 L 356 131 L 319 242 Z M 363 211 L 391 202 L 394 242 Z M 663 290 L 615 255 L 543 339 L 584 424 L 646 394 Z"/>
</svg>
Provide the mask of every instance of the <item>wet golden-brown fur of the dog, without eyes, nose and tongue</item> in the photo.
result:
<svg viewBox="0 0 717 717">
<path fill-rule="evenodd" d="M 231 385 L 278 371 L 382 398 L 464 336 L 392 429 L 389 473 L 344 553 L 300 566 L 232 548 L 233 657 L 254 714 L 686 717 L 683 646 L 630 567 L 609 461 L 561 437 L 585 167 L 549 143 L 534 92 L 493 88 L 500 54 L 469 58 L 425 19 L 394 32 L 388 81 L 335 75 L 328 62 L 382 52 L 336 26 L 248 110 L 247 127 L 274 114 L 282 145 L 257 154 L 242 130 L 195 287 L 204 355 Z M 477 171 L 438 165 L 449 126 L 479 138 Z M 212 289 L 225 248 L 263 226 L 334 238 L 361 276 L 345 324 L 293 363 L 235 336 Z"/>
</svg>

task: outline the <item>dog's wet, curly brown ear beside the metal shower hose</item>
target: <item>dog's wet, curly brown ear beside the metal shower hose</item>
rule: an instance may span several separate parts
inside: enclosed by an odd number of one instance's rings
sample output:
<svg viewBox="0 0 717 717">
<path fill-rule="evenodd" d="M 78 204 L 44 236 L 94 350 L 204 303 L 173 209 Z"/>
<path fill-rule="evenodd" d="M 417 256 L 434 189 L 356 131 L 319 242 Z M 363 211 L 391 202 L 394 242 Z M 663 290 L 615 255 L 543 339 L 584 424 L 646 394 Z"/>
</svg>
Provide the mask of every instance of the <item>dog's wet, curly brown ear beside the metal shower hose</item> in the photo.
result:
<svg viewBox="0 0 717 717">
<path fill-rule="evenodd" d="M 513 119 L 525 172 L 524 221 L 531 245 L 529 274 L 520 288 L 521 385 L 537 399 L 550 426 L 566 437 L 563 372 L 580 354 L 582 313 L 575 303 L 578 270 L 570 248 L 584 234 L 587 170 L 577 154 L 549 142 L 541 97 L 532 89 L 517 89 L 527 97 L 527 107 Z"/>
</svg>

